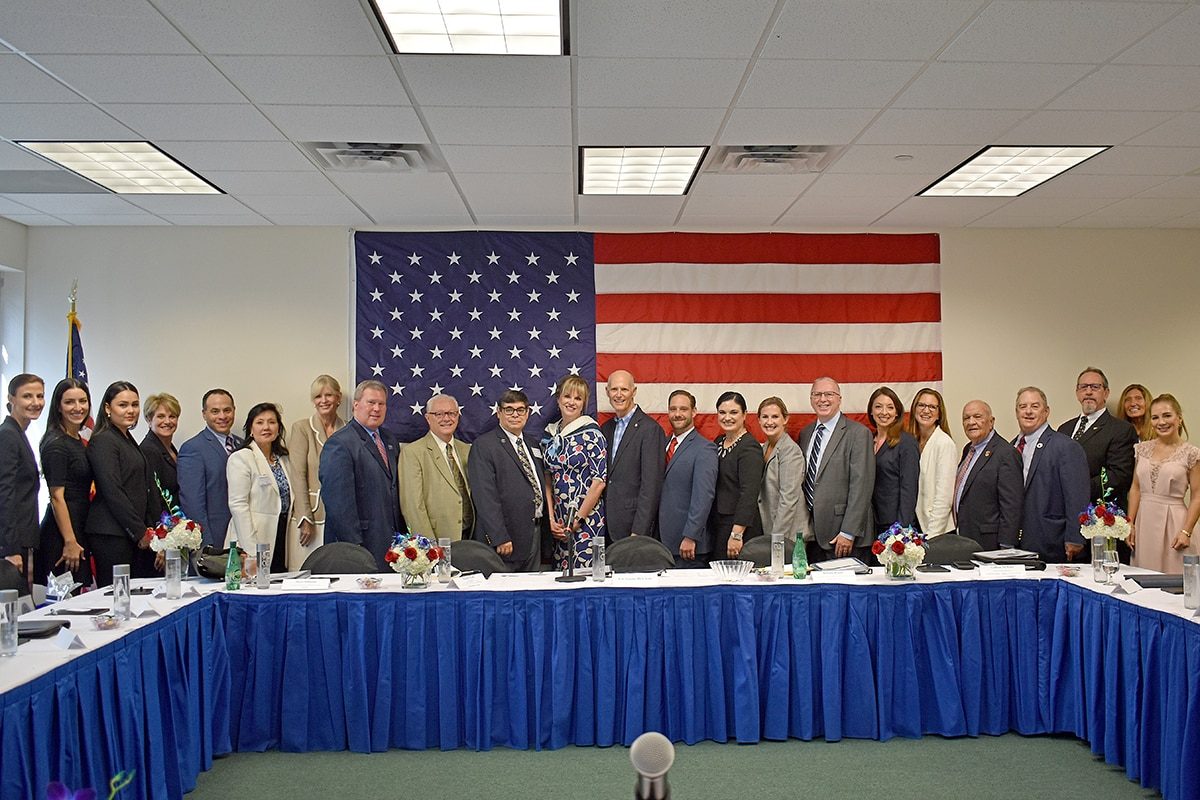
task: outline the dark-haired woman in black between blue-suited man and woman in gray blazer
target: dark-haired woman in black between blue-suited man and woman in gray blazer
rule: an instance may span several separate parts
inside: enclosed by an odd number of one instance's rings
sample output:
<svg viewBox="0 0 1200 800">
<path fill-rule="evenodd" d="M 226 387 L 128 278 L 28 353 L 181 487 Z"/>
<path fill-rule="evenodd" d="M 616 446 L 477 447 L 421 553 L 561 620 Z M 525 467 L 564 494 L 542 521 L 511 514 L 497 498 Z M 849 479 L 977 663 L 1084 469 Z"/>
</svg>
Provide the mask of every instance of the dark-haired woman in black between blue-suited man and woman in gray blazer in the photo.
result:
<svg viewBox="0 0 1200 800">
<path fill-rule="evenodd" d="M 762 488 L 762 447 L 746 431 L 746 399 L 738 392 L 716 398 L 716 497 L 708 515 L 713 560 L 736 559 L 742 545 L 762 534 L 758 492 Z"/>
</svg>

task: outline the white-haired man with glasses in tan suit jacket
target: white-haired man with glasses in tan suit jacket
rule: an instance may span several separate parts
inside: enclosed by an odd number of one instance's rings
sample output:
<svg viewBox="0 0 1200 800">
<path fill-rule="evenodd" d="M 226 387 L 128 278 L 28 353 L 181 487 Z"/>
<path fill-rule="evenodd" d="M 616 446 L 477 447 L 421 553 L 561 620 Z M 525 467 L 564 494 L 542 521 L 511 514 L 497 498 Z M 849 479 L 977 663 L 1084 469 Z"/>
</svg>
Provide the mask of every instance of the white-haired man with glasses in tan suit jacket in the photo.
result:
<svg viewBox="0 0 1200 800">
<path fill-rule="evenodd" d="M 475 524 L 467 482 L 470 445 L 454 438 L 458 401 L 434 395 L 425 404 L 430 432 L 400 451 L 400 509 L 414 534 L 469 539 Z"/>
</svg>

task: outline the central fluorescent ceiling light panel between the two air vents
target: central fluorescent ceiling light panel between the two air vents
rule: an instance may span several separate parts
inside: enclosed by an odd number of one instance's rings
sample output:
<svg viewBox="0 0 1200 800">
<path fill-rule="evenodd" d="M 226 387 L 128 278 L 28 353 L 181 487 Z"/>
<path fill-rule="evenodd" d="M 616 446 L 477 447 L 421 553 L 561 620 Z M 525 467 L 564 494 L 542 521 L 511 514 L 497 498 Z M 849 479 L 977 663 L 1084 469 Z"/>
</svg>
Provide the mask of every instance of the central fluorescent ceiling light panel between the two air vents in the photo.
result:
<svg viewBox="0 0 1200 800">
<path fill-rule="evenodd" d="M 581 194 L 686 194 L 708 148 L 581 148 Z"/>
</svg>

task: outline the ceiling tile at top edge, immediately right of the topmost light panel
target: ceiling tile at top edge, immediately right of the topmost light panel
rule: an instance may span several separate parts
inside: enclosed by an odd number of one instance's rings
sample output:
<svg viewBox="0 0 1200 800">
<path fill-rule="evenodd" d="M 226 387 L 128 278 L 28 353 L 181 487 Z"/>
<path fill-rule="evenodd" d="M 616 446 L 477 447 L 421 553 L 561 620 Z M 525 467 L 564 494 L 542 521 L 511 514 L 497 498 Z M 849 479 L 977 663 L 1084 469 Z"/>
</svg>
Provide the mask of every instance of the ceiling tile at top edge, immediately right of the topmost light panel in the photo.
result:
<svg viewBox="0 0 1200 800">
<path fill-rule="evenodd" d="M 754 52 L 775 0 L 588 0 L 572 5 L 582 56 L 740 58 Z"/>
</svg>

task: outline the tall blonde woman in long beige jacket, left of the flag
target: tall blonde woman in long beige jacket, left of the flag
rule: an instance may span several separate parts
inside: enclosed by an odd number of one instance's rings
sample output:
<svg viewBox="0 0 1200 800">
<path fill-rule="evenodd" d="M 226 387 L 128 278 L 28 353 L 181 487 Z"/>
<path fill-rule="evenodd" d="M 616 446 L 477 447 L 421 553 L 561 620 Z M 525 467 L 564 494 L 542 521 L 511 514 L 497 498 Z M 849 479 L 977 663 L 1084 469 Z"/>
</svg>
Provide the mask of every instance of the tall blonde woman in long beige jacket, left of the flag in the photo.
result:
<svg viewBox="0 0 1200 800">
<path fill-rule="evenodd" d="M 332 375 L 317 375 L 310 389 L 316 414 L 292 423 L 292 471 L 288 477 L 295 489 L 292 524 L 288 525 L 288 569 L 299 570 L 314 549 L 325 543 L 325 504 L 320 499 L 320 451 L 325 440 L 346 427 L 337 409 L 342 404 L 342 386 Z"/>
</svg>

